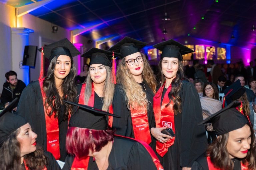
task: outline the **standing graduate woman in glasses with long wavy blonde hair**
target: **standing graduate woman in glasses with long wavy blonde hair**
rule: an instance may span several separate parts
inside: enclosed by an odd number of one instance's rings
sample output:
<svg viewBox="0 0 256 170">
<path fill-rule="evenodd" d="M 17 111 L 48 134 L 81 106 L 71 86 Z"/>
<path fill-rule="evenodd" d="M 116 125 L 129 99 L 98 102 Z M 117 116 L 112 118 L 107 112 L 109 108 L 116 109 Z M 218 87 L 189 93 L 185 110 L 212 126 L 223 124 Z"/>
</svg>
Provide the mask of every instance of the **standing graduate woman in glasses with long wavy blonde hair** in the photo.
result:
<svg viewBox="0 0 256 170">
<path fill-rule="evenodd" d="M 113 98 L 113 118 L 116 134 L 142 140 L 153 146 L 150 128 L 155 126 L 153 96 L 156 79 L 140 48 L 147 45 L 125 37 L 109 49 L 121 53 L 117 68 L 117 85 Z"/>
</svg>

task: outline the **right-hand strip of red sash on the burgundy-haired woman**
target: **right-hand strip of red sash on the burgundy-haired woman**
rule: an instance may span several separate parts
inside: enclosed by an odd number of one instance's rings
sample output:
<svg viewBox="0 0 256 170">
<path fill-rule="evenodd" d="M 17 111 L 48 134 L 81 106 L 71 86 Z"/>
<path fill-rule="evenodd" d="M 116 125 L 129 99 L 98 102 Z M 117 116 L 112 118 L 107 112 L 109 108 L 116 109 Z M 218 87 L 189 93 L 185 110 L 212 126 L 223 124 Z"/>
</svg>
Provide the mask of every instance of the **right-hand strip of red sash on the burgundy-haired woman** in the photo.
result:
<svg viewBox="0 0 256 170">
<path fill-rule="evenodd" d="M 126 137 L 126 136 L 117 135 L 117 134 L 115 134 L 115 136 L 132 139 L 132 140 L 135 140 L 135 141 L 139 142 L 140 144 L 142 144 L 145 147 L 145 149 L 148 151 L 149 155 L 151 156 L 154 164 L 156 165 L 157 170 L 164 170 L 164 168 L 161 165 L 159 159 L 157 158 L 155 152 L 152 150 L 152 148 L 146 142 L 141 141 L 141 140 L 136 140 L 136 139 Z"/>
</svg>

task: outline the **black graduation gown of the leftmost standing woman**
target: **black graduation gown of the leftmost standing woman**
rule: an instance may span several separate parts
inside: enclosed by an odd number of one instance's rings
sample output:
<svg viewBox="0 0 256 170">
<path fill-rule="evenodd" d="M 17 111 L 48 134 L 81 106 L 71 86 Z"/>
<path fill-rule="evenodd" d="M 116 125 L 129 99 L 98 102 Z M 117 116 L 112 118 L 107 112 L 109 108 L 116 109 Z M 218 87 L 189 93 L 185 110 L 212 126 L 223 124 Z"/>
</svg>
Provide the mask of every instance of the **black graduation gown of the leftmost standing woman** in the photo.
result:
<svg viewBox="0 0 256 170">
<path fill-rule="evenodd" d="M 59 112 L 58 117 L 61 161 L 65 161 L 67 156 L 66 135 L 68 130 L 68 120 L 63 120 L 63 111 L 64 105 L 61 106 L 61 111 Z M 33 131 L 37 134 L 37 145 L 41 146 L 46 151 L 46 122 L 39 81 L 32 82 L 23 90 L 17 107 L 17 114 L 28 121 Z"/>
</svg>

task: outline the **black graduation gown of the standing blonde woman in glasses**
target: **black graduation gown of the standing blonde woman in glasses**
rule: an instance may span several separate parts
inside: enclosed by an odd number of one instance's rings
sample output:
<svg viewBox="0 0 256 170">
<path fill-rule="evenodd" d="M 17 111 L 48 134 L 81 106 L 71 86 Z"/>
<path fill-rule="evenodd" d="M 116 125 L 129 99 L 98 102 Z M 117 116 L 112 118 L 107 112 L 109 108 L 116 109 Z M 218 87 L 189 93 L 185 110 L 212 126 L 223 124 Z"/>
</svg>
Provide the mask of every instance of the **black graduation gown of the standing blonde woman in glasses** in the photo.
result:
<svg viewBox="0 0 256 170">
<path fill-rule="evenodd" d="M 148 123 L 149 123 L 149 129 L 152 127 L 156 127 L 155 117 L 154 117 L 154 111 L 153 111 L 153 97 L 154 93 L 149 88 L 149 86 L 145 83 L 142 85 L 142 89 L 144 90 L 144 85 L 146 87 L 146 97 L 149 101 L 148 105 Z M 113 129 L 116 129 L 116 134 L 131 137 L 134 138 L 134 132 L 132 127 L 132 118 L 131 118 L 131 111 L 127 107 L 127 101 L 126 101 L 126 93 L 122 88 L 121 84 L 117 84 L 115 87 L 114 97 L 113 97 L 113 112 L 116 115 L 121 116 L 121 118 L 115 118 L 113 117 Z M 149 144 L 150 147 L 153 148 L 155 151 L 155 145 L 156 140 L 155 138 L 150 134 L 151 136 L 151 143 Z"/>
</svg>

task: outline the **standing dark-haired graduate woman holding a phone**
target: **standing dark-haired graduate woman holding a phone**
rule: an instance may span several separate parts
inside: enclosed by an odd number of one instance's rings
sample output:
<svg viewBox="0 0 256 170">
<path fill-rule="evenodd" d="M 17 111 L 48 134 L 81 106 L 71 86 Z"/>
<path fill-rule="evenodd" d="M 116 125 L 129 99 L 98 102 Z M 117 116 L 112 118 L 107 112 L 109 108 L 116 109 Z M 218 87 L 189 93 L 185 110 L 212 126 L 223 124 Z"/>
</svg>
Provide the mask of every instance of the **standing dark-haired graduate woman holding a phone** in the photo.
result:
<svg viewBox="0 0 256 170">
<path fill-rule="evenodd" d="M 151 128 L 158 140 L 158 158 L 164 169 L 189 170 L 207 147 L 204 126 L 197 125 L 203 120 L 199 96 L 194 85 L 184 79 L 181 62 L 182 55 L 194 51 L 172 39 L 153 47 L 162 51 L 161 86 L 153 104 L 156 128 Z M 175 136 L 165 138 L 162 130 L 166 127 Z"/>
</svg>

